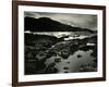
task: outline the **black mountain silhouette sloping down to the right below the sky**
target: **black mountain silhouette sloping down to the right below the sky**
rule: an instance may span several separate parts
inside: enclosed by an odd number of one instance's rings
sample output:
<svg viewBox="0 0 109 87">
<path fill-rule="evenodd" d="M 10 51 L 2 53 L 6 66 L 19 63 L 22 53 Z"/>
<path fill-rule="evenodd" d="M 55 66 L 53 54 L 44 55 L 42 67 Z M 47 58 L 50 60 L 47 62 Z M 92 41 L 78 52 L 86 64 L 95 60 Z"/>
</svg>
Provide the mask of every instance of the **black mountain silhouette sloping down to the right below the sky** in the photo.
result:
<svg viewBox="0 0 109 87">
<path fill-rule="evenodd" d="M 24 28 L 31 32 L 88 32 L 95 33 L 94 30 L 81 27 L 74 27 L 71 25 L 62 24 L 53 21 L 49 17 L 24 17 Z"/>
</svg>

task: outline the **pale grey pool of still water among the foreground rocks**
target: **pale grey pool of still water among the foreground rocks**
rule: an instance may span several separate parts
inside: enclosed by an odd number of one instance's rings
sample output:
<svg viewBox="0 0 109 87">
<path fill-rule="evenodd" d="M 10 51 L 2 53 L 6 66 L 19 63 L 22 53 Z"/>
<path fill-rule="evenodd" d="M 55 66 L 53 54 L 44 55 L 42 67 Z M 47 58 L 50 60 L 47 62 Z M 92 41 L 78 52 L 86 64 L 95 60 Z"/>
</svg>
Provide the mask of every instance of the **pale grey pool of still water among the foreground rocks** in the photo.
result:
<svg viewBox="0 0 109 87">
<path fill-rule="evenodd" d="M 92 64 L 94 57 L 90 55 L 93 50 L 88 51 L 82 51 L 78 50 L 74 54 L 70 54 L 68 59 L 63 59 L 60 55 L 51 57 L 48 59 L 45 63 L 46 65 L 49 65 L 50 63 L 55 62 L 56 59 L 59 60 L 59 62 L 56 62 L 55 67 L 58 69 L 58 73 L 64 73 L 64 72 L 80 72 L 82 65 Z M 78 59 L 78 55 L 81 58 Z M 64 70 L 64 67 L 66 70 Z"/>
</svg>

